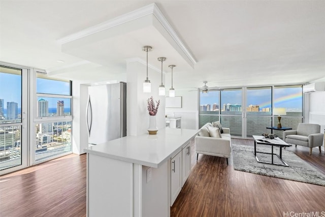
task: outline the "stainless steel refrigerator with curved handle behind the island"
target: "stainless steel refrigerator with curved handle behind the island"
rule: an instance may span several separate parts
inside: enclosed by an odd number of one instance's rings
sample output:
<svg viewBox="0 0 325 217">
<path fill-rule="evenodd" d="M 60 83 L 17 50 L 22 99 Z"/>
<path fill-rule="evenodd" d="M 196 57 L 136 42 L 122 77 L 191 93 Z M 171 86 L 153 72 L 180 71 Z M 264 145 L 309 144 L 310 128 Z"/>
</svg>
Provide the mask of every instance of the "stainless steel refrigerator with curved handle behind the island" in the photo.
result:
<svg viewBox="0 0 325 217">
<path fill-rule="evenodd" d="M 126 83 L 88 87 L 88 144 L 126 136 Z"/>
</svg>

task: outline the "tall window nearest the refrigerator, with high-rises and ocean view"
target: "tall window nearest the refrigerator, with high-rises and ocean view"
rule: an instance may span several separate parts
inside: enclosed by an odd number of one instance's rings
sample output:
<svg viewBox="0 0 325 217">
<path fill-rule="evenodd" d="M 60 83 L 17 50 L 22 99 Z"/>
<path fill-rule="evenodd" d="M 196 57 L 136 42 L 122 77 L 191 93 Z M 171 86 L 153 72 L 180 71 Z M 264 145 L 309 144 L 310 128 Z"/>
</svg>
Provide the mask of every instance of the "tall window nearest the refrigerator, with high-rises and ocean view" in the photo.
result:
<svg viewBox="0 0 325 217">
<path fill-rule="evenodd" d="M 35 107 L 35 162 L 70 153 L 72 83 L 37 73 Z"/>
</svg>

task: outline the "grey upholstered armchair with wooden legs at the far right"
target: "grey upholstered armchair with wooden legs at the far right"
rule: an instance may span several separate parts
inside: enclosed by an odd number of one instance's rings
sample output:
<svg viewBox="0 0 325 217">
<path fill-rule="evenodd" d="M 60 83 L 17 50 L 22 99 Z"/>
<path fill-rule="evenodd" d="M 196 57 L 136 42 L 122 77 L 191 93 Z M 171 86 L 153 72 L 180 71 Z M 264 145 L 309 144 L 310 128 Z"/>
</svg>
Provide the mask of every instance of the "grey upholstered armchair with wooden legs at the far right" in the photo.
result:
<svg viewBox="0 0 325 217">
<path fill-rule="evenodd" d="M 319 148 L 323 144 L 324 134 L 320 133 L 320 125 L 316 123 L 299 123 L 297 130 L 283 131 L 283 140 L 286 143 L 302 145 L 309 147 L 309 154 L 312 152 L 313 147 Z"/>
</svg>

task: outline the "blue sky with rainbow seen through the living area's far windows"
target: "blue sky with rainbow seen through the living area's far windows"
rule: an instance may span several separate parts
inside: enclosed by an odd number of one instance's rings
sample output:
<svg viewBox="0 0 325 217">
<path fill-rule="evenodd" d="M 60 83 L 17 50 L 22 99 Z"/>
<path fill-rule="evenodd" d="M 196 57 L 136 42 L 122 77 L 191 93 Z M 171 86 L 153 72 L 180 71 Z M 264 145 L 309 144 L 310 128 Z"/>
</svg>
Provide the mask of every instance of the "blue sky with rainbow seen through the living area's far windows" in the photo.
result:
<svg viewBox="0 0 325 217">
<path fill-rule="evenodd" d="M 301 88 L 274 88 L 274 107 L 289 109 L 302 108 L 302 89 Z M 208 94 L 200 94 L 201 105 L 214 103 L 218 104 L 219 91 L 209 91 Z M 247 91 L 247 104 L 260 105 L 260 108 L 271 108 L 271 88 L 269 89 L 250 89 Z M 221 92 L 221 105 L 242 104 L 241 90 L 225 90 Z"/>
</svg>

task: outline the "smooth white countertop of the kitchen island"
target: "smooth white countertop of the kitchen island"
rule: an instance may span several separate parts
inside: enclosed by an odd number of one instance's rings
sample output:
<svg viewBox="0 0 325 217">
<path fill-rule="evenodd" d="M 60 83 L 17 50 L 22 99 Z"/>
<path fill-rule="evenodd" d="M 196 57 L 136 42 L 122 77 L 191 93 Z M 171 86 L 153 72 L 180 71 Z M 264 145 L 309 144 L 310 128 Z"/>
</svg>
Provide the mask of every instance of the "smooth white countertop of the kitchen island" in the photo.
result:
<svg viewBox="0 0 325 217">
<path fill-rule="evenodd" d="M 158 168 L 181 150 L 198 130 L 159 129 L 156 135 L 125 136 L 85 148 L 86 153 Z"/>
</svg>

